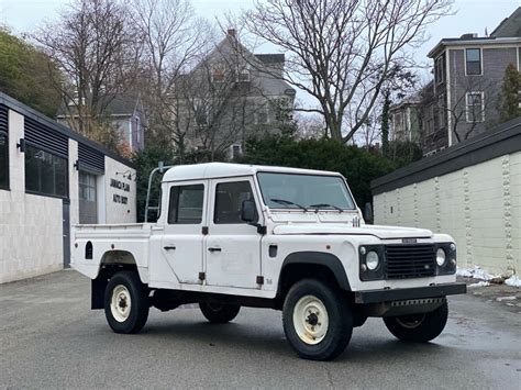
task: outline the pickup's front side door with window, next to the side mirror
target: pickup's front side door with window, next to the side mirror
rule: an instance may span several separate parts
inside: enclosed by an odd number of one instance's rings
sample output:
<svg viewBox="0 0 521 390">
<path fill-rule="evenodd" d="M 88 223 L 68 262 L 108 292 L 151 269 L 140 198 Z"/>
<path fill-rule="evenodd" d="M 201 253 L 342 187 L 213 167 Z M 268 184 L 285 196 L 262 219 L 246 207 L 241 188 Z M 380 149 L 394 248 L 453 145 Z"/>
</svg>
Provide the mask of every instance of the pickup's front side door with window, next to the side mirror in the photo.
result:
<svg viewBox="0 0 521 390">
<path fill-rule="evenodd" d="M 241 220 L 245 200 L 255 201 L 257 215 L 260 215 L 253 178 L 214 179 L 210 187 L 204 250 L 207 285 L 257 288 L 256 278 L 262 275 L 262 236 L 255 226 Z"/>
</svg>

